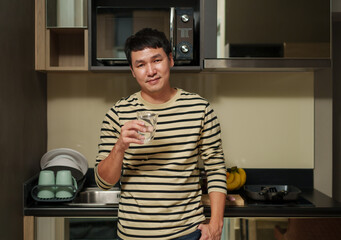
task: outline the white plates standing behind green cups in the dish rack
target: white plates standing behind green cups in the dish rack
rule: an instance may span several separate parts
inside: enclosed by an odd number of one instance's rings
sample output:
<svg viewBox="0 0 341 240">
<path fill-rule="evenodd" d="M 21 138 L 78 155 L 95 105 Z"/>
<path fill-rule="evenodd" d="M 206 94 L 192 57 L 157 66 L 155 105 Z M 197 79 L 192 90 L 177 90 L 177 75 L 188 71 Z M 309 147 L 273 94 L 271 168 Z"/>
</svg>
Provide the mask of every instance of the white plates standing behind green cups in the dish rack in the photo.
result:
<svg viewBox="0 0 341 240">
<path fill-rule="evenodd" d="M 48 151 L 40 161 L 41 169 L 54 171 L 70 169 L 72 175 L 79 180 L 88 171 L 88 161 L 80 153 L 70 148 L 58 148 Z"/>
</svg>

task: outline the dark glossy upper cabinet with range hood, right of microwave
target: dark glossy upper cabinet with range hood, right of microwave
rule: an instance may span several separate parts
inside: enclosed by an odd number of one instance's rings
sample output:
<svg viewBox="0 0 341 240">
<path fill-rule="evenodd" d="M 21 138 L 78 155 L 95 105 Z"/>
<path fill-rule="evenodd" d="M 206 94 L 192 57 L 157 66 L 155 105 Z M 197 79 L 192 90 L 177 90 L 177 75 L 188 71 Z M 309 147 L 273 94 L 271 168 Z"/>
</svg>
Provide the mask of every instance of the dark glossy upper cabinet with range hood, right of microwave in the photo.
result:
<svg viewBox="0 0 341 240">
<path fill-rule="evenodd" d="M 330 5 L 328 0 L 217 0 L 215 56 L 205 59 L 205 69 L 330 67 Z"/>
</svg>

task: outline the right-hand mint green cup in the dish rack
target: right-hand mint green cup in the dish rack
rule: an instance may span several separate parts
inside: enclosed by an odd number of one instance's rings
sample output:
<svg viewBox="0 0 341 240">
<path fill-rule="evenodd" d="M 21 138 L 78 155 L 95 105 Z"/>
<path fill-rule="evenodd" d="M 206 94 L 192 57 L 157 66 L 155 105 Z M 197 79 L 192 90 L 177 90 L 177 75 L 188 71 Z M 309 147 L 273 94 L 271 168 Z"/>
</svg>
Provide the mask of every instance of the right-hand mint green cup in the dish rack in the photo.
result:
<svg viewBox="0 0 341 240">
<path fill-rule="evenodd" d="M 70 198 L 77 190 L 77 181 L 71 175 L 70 170 L 57 172 L 56 176 L 56 197 Z"/>
</svg>

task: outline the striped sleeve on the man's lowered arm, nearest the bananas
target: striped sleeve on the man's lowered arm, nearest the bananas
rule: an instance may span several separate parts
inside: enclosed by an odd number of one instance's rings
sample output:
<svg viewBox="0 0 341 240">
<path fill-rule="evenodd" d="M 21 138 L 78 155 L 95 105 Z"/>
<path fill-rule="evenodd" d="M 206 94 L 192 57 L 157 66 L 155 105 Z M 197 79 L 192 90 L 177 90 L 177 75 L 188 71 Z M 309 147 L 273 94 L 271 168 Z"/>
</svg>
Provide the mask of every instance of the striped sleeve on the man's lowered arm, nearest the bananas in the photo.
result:
<svg viewBox="0 0 341 240">
<path fill-rule="evenodd" d="M 208 193 L 227 194 L 226 165 L 220 132 L 218 118 L 207 103 L 199 141 L 200 156 L 207 175 L 207 189 Z"/>
</svg>

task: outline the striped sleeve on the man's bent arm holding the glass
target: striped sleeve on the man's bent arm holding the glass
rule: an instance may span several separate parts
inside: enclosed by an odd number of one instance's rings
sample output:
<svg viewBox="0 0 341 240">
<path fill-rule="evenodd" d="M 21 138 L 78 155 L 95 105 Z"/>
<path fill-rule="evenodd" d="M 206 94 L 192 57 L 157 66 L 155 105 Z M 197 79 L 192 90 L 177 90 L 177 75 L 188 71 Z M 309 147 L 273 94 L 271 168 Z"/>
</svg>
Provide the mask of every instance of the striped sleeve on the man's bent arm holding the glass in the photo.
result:
<svg viewBox="0 0 341 240">
<path fill-rule="evenodd" d="M 97 167 L 98 164 L 109 155 L 120 136 L 121 126 L 119 122 L 119 117 L 115 107 L 112 107 L 107 112 L 102 122 L 100 143 L 98 144 L 98 154 L 96 157 L 94 174 L 97 186 L 104 190 L 108 190 L 114 185 L 104 181 L 101 176 L 99 176 Z"/>
</svg>

